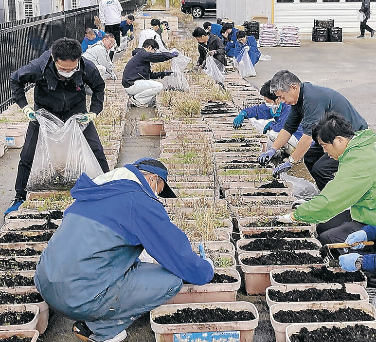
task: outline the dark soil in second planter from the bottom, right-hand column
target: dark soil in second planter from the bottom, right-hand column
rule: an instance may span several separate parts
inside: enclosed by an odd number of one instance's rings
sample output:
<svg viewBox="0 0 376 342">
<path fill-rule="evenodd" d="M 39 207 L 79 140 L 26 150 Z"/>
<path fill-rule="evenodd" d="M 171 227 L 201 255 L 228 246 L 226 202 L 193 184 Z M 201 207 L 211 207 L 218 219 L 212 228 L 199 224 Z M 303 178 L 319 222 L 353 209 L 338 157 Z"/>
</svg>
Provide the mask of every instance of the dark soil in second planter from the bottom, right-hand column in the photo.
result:
<svg viewBox="0 0 376 342">
<path fill-rule="evenodd" d="M 375 321 L 375 318 L 365 311 L 349 307 L 334 311 L 328 309 L 280 310 L 273 317 L 281 323 Z"/>
</svg>

